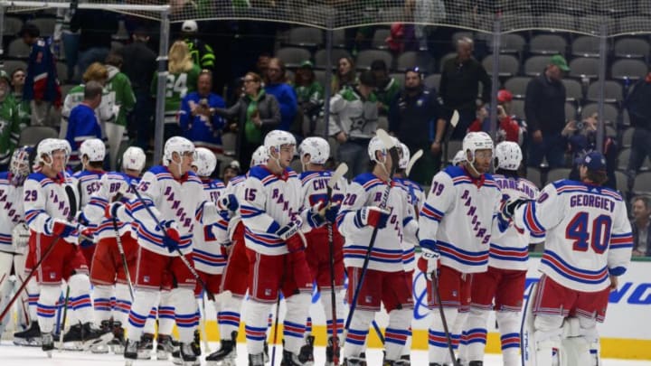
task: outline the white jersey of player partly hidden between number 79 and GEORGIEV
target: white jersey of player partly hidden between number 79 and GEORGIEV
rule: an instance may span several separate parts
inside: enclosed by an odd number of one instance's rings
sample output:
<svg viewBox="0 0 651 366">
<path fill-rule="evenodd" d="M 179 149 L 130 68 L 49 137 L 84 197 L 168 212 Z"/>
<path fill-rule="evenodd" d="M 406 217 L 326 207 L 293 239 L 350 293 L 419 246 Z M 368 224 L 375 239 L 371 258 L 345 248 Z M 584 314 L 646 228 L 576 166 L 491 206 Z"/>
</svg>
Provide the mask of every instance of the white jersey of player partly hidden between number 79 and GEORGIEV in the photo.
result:
<svg viewBox="0 0 651 366">
<path fill-rule="evenodd" d="M 502 191 L 502 197 L 521 197 L 534 200 L 538 197 L 538 187 L 524 178 L 506 177 L 495 174 L 493 179 Z M 507 197 L 505 197 L 507 196 Z M 529 244 L 540 243 L 544 240 L 543 233 L 533 233 L 528 230 L 518 230 L 511 223 L 499 238 L 491 240 L 488 266 L 503 269 L 527 269 L 529 259 Z"/>
</svg>

